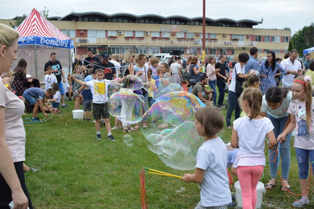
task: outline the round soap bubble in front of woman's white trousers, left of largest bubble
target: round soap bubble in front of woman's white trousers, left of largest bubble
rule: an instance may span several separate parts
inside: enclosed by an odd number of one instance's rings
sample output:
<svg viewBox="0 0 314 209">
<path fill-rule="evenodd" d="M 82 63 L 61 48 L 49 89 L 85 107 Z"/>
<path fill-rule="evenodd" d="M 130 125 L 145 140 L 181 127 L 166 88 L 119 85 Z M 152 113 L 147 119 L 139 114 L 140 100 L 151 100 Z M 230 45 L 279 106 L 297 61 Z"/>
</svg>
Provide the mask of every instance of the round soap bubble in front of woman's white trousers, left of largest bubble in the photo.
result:
<svg viewBox="0 0 314 209">
<path fill-rule="evenodd" d="M 117 92 L 111 95 L 108 100 L 108 111 L 111 116 L 117 117 L 126 124 L 135 124 L 141 121 L 141 116 L 134 114 L 134 106 L 144 105 L 143 95 L 133 92 Z"/>
</svg>

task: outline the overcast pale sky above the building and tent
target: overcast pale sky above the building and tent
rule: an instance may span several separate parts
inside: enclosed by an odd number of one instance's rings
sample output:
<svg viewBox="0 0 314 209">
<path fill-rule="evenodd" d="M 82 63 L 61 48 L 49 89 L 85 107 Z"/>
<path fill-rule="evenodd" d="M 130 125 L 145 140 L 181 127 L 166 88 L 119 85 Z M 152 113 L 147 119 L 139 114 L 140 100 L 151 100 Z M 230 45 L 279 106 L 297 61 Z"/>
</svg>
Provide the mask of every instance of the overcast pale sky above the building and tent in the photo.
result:
<svg viewBox="0 0 314 209">
<path fill-rule="evenodd" d="M 171 2 L 171 3 L 170 3 Z M 157 1 L 94 1 L 94 0 L 1 0 L 0 19 L 12 19 L 16 15 L 28 15 L 32 8 L 49 10 L 49 16 L 65 16 L 73 12 L 102 12 L 106 14 L 130 13 L 135 15 L 160 14 L 161 16 L 182 15 L 199 17 L 203 15 L 202 0 L 157 0 Z M 290 27 L 292 34 L 314 21 L 313 0 L 262 0 L 262 1 L 206 1 L 206 17 L 212 19 L 261 20 L 263 24 L 254 28 L 283 29 Z"/>
</svg>

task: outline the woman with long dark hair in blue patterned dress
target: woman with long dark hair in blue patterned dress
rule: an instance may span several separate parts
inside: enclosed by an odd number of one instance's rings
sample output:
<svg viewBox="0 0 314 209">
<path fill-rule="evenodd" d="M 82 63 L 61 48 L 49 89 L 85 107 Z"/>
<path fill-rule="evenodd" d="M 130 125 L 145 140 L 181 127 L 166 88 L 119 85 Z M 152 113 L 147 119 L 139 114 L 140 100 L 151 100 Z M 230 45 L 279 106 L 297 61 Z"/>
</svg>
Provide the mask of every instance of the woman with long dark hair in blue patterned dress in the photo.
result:
<svg viewBox="0 0 314 209">
<path fill-rule="evenodd" d="M 263 95 L 266 93 L 266 90 L 269 87 L 276 86 L 274 76 L 293 73 L 293 71 L 286 71 L 279 63 L 276 62 L 276 54 L 272 51 L 267 53 L 267 61 L 261 62 L 258 71 L 261 78 L 261 83 L 263 83 L 263 85 L 260 87 Z M 276 73 L 277 71 L 280 72 Z"/>
</svg>

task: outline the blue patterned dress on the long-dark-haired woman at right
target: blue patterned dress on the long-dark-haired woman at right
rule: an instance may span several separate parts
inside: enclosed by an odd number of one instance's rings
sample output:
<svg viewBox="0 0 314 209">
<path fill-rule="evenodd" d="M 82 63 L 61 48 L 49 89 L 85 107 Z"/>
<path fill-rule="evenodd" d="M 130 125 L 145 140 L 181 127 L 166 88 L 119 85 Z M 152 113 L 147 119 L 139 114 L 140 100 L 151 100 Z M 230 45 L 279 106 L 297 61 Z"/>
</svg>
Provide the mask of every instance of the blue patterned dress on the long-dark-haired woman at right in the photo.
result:
<svg viewBox="0 0 314 209">
<path fill-rule="evenodd" d="M 261 62 L 258 68 L 259 74 L 263 73 L 264 76 L 267 76 L 266 78 L 261 78 L 261 83 L 263 85 L 260 87 L 263 95 L 266 93 L 267 89 L 271 86 L 276 86 L 276 81 L 274 79 L 274 76 L 277 71 L 281 72 L 281 75 L 286 75 L 287 71 L 281 67 L 279 63 L 276 62 L 275 70 L 273 71 L 273 67 L 269 66 L 265 67 L 265 61 Z"/>
</svg>

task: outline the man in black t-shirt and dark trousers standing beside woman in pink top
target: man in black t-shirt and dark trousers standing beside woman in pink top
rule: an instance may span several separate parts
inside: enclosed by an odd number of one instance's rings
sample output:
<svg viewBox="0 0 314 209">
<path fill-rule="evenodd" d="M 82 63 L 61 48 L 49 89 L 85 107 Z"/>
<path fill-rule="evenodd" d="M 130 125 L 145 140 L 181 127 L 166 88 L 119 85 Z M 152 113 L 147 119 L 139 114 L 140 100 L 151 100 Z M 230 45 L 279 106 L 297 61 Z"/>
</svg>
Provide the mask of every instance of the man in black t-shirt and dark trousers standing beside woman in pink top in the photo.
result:
<svg viewBox="0 0 314 209">
<path fill-rule="evenodd" d="M 226 70 L 225 61 L 226 61 L 226 55 L 221 54 L 219 62 L 215 64 L 215 69 L 220 68 L 220 71 L 216 72 L 217 87 L 219 91 L 217 105 L 220 105 L 220 106 L 224 103 L 224 98 L 225 98 L 225 82 L 224 81 L 228 81 L 228 79 L 230 78 Z"/>
</svg>

